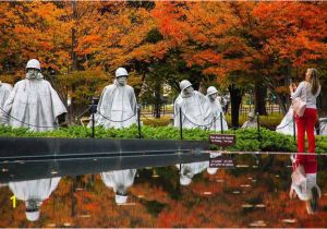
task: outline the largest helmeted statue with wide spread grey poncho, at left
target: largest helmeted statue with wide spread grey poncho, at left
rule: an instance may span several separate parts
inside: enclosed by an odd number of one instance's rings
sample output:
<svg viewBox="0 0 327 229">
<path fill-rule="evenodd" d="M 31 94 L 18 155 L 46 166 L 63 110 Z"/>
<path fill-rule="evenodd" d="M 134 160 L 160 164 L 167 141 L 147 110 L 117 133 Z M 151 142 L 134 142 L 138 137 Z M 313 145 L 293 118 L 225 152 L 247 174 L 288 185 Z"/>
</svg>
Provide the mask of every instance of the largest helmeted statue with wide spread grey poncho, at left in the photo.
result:
<svg viewBox="0 0 327 229">
<path fill-rule="evenodd" d="M 66 109 L 51 84 L 43 79 L 37 60 L 29 60 L 26 70 L 26 79 L 14 85 L 3 106 L 3 119 L 13 128 L 53 130 L 58 125 L 57 118 Z"/>
</svg>

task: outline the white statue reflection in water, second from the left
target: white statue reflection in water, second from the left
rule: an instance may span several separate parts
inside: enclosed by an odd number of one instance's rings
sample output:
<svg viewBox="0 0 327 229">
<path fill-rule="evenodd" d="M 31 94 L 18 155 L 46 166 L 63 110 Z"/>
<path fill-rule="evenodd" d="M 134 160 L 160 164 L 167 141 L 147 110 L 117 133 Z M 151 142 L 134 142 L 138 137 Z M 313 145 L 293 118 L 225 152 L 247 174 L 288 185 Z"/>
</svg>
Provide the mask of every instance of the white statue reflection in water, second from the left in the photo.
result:
<svg viewBox="0 0 327 229">
<path fill-rule="evenodd" d="M 112 188 L 117 204 L 125 204 L 128 202 L 128 188 L 134 183 L 136 169 L 125 169 L 101 172 L 101 179 L 106 186 Z"/>
</svg>

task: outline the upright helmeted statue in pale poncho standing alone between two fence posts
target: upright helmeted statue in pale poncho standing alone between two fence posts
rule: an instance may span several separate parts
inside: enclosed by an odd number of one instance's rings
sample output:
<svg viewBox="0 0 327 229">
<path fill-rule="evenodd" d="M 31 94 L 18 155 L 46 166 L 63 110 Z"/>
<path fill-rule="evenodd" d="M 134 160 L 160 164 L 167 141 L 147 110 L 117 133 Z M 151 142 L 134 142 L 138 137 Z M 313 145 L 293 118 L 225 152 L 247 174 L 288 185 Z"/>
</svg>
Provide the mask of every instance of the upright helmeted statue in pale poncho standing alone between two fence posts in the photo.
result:
<svg viewBox="0 0 327 229">
<path fill-rule="evenodd" d="M 96 125 L 129 128 L 137 121 L 137 103 L 133 87 L 126 85 L 128 72 L 116 71 L 113 84 L 106 86 L 96 113 Z"/>
</svg>

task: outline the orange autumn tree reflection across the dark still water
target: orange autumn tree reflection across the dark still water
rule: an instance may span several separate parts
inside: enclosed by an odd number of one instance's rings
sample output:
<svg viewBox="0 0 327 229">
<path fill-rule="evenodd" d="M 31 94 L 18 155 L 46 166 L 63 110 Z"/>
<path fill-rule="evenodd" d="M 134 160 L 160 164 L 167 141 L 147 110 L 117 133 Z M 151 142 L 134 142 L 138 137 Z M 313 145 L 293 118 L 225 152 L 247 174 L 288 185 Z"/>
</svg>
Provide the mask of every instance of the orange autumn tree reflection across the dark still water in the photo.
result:
<svg viewBox="0 0 327 229">
<path fill-rule="evenodd" d="M 114 203 L 114 193 L 99 174 L 62 178 L 28 222 L 24 203 L 12 208 L 11 191 L 0 188 L 0 227 L 326 227 L 327 173 L 318 158 L 319 212 L 307 215 L 303 203 L 289 198 L 291 168 L 288 156 L 238 156 L 235 169 L 206 170 L 187 186 L 180 185 L 174 166 L 140 169 L 129 189 L 126 205 Z M 259 164 L 257 165 L 257 160 Z M 255 168 L 253 168 L 255 167 Z"/>
</svg>

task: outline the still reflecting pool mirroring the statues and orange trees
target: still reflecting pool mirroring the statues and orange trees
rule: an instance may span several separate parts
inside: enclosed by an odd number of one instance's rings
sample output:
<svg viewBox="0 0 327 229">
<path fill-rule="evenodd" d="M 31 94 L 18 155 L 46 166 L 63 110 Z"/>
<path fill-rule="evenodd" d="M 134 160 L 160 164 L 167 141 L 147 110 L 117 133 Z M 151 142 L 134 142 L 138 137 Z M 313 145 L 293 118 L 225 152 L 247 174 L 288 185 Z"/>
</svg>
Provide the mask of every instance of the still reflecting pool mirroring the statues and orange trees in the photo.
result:
<svg viewBox="0 0 327 229">
<path fill-rule="evenodd" d="M 198 155 L 2 161 L 0 227 L 327 226 L 324 156 L 313 215 L 289 197 L 289 155 L 229 157 L 234 168 L 208 168 Z"/>
</svg>

